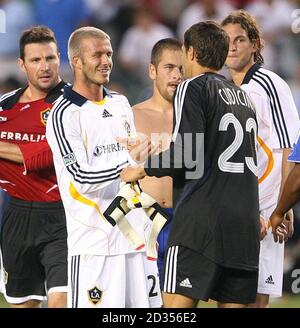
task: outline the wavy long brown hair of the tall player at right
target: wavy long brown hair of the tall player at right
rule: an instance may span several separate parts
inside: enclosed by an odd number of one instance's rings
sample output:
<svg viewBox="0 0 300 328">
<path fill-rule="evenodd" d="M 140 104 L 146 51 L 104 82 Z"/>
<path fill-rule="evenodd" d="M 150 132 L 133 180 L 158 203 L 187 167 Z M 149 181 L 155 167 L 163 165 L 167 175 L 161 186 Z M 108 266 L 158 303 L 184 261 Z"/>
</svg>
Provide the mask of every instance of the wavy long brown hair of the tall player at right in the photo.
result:
<svg viewBox="0 0 300 328">
<path fill-rule="evenodd" d="M 239 24 L 242 29 L 246 31 L 251 42 L 257 41 L 257 50 L 254 53 L 254 61 L 257 64 L 262 65 L 264 63 L 264 58 L 261 51 L 264 47 L 264 40 L 255 18 L 246 10 L 236 10 L 228 15 L 221 23 L 222 26 L 226 26 L 228 24 Z"/>
</svg>

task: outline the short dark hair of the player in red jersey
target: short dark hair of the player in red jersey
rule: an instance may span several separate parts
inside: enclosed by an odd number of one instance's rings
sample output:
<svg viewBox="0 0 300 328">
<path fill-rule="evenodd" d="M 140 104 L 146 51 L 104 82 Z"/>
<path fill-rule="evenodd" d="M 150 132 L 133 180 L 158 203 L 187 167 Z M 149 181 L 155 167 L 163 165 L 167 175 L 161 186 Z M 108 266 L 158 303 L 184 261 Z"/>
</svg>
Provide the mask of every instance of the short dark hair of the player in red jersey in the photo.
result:
<svg viewBox="0 0 300 328">
<path fill-rule="evenodd" d="M 53 31 L 47 26 L 34 26 L 24 30 L 19 41 L 20 58 L 24 60 L 25 46 L 30 43 L 49 43 L 54 42 L 57 46 Z"/>
</svg>

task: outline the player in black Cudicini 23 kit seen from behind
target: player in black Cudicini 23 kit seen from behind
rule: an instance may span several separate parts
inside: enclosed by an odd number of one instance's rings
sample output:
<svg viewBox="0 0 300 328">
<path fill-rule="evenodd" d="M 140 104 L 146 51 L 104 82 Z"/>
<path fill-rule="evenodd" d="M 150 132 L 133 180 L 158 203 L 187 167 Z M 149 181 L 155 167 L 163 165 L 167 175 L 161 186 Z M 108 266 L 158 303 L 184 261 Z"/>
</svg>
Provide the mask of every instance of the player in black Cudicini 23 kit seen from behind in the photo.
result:
<svg viewBox="0 0 300 328">
<path fill-rule="evenodd" d="M 176 124 L 169 150 L 145 167 L 127 168 L 124 181 L 173 176 L 174 218 L 164 261 L 165 307 L 220 307 L 255 300 L 259 255 L 256 120 L 244 91 L 217 72 L 229 38 L 214 22 L 184 35 L 186 81 L 176 91 Z"/>
</svg>

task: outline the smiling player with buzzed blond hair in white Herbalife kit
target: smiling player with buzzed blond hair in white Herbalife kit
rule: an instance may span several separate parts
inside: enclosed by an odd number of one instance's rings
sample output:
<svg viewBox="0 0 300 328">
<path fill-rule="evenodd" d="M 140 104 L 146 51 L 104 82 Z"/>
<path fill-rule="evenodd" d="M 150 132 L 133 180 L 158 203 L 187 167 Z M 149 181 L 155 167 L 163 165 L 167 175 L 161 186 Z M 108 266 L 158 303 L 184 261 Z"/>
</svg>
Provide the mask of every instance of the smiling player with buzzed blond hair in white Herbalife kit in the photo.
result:
<svg viewBox="0 0 300 328">
<path fill-rule="evenodd" d="M 135 132 L 127 98 L 103 86 L 113 66 L 110 37 L 94 27 L 77 29 L 68 53 L 74 85 L 50 113 L 46 133 L 67 217 L 68 306 L 160 307 L 156 262 L 103 216 L 130 160 L 117 139 Z M 127 218 L 144 237 L 149 218 L 136 211 Z"/>
</svg>

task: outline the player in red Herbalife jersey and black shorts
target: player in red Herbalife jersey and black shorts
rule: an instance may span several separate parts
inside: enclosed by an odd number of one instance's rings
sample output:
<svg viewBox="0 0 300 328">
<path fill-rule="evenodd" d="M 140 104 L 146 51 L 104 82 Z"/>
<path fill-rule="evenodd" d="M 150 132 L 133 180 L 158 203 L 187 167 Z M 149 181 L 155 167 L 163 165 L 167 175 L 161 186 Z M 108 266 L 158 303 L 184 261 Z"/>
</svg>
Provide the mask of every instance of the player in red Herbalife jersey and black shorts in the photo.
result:
<svg viewBox="0 0 300 328">
<path fill-rule="evenodd" d="M 1 230 L 5 297 L 12 307 L 65 307 L 67 231 L 46 121 L 65 83 L 53 32 L 20 37 L 19 66 L 28 85 L 0 99 L 0 186 L 11 196 Z"/>
</svg>

